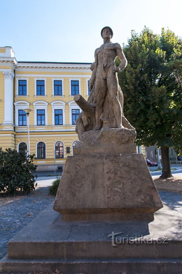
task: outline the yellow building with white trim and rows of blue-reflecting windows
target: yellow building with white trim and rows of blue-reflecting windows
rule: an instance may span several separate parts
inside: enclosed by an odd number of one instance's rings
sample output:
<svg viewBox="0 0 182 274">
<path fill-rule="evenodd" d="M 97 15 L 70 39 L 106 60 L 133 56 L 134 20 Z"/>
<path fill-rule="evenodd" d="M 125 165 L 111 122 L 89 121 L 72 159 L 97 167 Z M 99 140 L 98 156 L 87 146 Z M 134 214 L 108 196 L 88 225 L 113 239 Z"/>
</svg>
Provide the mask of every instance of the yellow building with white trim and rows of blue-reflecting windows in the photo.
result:
<svg viewBox="0 0 182 274">
<path fill-rule="evenodd" d="M 73 98 L 89 96 L 90 63 L 16 61 L 12 47 L 0 47 L 0 147 L 27 150 L 30 108 L 30 153 L 37 171 L 64 167 L 78 141 L 75 120 L 81 109 Z M 145 148 L 137 148 L 145 154 Z M 55 159 L 55 160 L 54 160 Z"/>
</svg>

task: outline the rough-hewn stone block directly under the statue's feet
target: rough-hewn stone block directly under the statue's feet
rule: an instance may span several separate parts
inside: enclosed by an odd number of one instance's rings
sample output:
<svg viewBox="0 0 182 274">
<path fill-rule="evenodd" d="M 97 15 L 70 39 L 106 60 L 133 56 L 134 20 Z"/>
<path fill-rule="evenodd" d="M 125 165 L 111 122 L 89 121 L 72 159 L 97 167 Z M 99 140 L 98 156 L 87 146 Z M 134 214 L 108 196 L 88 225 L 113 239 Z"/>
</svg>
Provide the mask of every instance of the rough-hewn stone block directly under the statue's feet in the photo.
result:
<svg viewBox="0 0 182 274">
<path fill-rule="evenodd" d="M 74 155 L 136 153 L 136 131 L 127 128 L 102 128 L 84 132 L 73 148 Z"/>
</svg>

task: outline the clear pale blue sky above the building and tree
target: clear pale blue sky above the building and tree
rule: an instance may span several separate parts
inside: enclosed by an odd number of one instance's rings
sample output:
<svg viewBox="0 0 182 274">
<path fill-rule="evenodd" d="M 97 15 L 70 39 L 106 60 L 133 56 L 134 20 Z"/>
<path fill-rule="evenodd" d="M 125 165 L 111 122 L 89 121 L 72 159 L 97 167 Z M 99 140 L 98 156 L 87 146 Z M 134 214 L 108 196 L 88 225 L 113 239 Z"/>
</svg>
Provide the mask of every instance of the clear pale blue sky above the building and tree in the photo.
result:
<svg viewBox="0 0 182 274">
<path fill-rule="evenodd" d="M 17 61 L 93 62 L 110 26 L 112 42 L 127 43 L 131 30 L 181 33 L 182 1 L 169 0 L 0 0 L 0 46 Z"/>
</svg>

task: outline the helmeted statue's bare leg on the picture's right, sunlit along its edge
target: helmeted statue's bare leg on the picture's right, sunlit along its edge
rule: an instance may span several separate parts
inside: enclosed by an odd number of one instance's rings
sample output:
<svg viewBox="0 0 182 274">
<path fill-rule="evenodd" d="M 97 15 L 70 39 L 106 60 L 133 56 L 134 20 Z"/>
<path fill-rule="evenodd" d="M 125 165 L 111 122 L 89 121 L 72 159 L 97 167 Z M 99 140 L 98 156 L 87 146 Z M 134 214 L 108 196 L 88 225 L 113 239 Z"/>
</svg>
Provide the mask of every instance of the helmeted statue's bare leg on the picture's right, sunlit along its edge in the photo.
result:
<svg viewBox="0 0 182 274">
<path fill-rule="evenodd" d="M 118 97 L 118 86 L 119 83 L 117 74 L 113 72 L 113 66 L 110 66 L 107 73 L 107 87 L 113 103 L 113 112 L 116 119 L 117 128 L 124 128 L 122 125 L 122 108 Z"/>
</svg>

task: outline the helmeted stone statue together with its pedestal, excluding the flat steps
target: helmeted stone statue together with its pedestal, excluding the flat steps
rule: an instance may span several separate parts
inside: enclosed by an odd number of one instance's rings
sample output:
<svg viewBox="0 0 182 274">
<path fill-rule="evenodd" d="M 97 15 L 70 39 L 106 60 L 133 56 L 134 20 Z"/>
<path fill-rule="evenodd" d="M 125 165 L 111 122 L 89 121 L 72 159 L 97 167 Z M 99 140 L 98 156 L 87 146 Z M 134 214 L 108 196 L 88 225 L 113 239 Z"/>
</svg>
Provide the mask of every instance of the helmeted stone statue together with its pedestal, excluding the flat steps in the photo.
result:
<svg viewBox="0 0 182 274">
<path fill-rule="evenodd" d="M 104 44 L 91 65 L 88 101 L 74 97 L 82 109 L 75 128 L 79 142 L 66 159 L 54 210 L 63 222 L 152 221 L 163 205 L 143 154 L 136 153 L 136 131 L 123 114 L 117 72 L 127 61 L 120 45 L 110 42 L 111 28 L 104 27 L 101 35 Z"/>
</svg>

